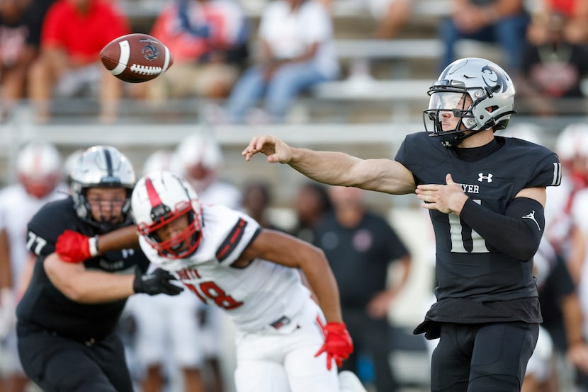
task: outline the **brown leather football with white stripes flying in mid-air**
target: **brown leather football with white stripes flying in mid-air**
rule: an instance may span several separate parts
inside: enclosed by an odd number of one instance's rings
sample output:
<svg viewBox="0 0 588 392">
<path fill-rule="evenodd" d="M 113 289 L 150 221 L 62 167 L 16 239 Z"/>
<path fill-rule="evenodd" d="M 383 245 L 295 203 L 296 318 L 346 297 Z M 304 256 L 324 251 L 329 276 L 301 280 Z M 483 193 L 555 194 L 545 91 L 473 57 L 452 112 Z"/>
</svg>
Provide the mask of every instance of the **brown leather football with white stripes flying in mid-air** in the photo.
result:
<svg viewBox="0 0 588 392">
<path fill-rule="evenodd" d="M 142 33 L 115 38 L 102 48 L 100 59 L 111 74 L 130 83 L 155 79 L 174 63 L 161 41 Z"/>
</svg>

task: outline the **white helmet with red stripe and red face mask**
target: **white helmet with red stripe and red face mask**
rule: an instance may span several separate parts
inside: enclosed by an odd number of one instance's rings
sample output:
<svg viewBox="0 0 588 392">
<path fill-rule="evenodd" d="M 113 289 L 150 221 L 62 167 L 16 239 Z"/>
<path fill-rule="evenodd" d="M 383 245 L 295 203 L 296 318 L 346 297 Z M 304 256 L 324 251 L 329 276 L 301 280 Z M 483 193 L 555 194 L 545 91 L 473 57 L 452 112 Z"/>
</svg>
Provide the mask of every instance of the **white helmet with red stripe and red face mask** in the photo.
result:
<svg viewBox="0 0 588 392">
<path fill-rule="evenodd" d="M 176 259 L 191 255 L 200 244 L 202 207 L 188 181 L 170 171 L 154 171 L 139 181 L 132 192 L 132 218 L 137 230 L 159 255 Z M 188 217 L 180 234 L 164 241 L 157 231 L 179 217 Z"/>
</svg>

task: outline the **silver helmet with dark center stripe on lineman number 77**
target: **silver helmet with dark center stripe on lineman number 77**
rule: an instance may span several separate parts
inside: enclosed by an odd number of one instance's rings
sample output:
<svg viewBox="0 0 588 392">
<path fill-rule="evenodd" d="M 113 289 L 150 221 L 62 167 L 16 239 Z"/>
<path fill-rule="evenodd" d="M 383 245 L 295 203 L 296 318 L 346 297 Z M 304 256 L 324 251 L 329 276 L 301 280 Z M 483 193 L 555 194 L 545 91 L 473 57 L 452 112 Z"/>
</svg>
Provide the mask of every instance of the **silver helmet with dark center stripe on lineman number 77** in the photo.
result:
<svg viewBox="0 0 588 392">
<path fill-rule="evenodd" d="M 78 217 L 101 231 L 110 231 L 130 221 L 130 194 L 135 186 L 135 170 L 129 159 L 112 146 L 93 146 L 77 159 L 71 172 L 70 190 Z M 123 222 L 96 221 L 86 192 L 89 188 L 125 188 L 127 200 L 123 203 Z"/>
</svg>

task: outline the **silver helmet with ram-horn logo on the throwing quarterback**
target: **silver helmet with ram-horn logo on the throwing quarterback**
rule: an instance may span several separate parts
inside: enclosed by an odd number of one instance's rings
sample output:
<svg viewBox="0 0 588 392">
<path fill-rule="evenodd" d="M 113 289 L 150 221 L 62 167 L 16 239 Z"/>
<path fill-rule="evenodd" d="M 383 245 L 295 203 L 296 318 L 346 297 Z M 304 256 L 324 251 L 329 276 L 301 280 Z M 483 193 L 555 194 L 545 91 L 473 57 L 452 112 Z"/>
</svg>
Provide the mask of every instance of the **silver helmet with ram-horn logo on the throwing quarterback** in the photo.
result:
<svg viewBox="0 0 588 392">
<path fill-rule="evenodd" d="M 429 88 L 429 108 L 424 110 L 426 132 L 440 137 L 444 146 L 453 147 L 471 135 L 492 128 L 504 129 L 514 110 L 514 84 L 497 64 L 476 57 L 449 64 Z M 465 104 L 465 94 L 471 104 Z M 443 130 L 442 117 L 460 117 L 455 129 Z M 471 132 L 467 132 L 471 131 Z"/>
</svg>

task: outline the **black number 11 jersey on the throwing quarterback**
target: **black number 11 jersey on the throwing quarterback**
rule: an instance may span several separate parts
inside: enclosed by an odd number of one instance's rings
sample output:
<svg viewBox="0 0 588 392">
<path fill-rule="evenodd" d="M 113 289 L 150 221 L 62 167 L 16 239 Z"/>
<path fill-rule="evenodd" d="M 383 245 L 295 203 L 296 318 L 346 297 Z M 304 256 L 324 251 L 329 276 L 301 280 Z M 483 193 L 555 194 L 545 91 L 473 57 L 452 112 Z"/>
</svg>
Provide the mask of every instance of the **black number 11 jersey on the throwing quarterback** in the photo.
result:
<svg viewBox="0 0 588 392">
<path fill-rule="evenodd" d="M 412 171 L 418 184 L 445 184 L 447 173 L 475 202 L 505 214 L 524 188 L 560 183 L 558 156 L 521 139 L 496 137 L 502 147 L 478 161 L 462 161 L 456 149 L 426 132 L 409 134 L 395 160 Z M 430 210 L 436 238 L 437 303 L 433 321 L 481 323 L 541 322 L 533 263 L 499 252 L 456 214 Z"/>
</svg>

